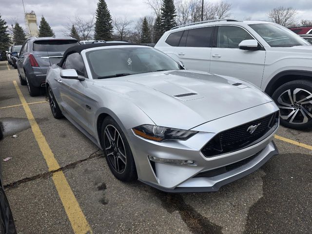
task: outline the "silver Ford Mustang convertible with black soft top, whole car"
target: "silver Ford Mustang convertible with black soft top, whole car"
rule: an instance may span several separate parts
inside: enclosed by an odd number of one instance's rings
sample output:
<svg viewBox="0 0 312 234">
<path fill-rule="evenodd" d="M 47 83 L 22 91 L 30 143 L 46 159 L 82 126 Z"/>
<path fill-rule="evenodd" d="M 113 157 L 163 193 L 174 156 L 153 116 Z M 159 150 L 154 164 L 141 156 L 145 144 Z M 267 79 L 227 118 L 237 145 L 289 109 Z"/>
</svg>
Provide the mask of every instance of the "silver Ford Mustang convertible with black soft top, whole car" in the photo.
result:
<svg viewBox="0 0 312 234">
<path fill-rule="evenodd" d="M 98 145 L 123 181 L 217 191 L 278 154 L 271 98 L 236 78 L 185 70 L 152 47 L 73 46 L 46 87 L 53 116 Z"/>
</svg>

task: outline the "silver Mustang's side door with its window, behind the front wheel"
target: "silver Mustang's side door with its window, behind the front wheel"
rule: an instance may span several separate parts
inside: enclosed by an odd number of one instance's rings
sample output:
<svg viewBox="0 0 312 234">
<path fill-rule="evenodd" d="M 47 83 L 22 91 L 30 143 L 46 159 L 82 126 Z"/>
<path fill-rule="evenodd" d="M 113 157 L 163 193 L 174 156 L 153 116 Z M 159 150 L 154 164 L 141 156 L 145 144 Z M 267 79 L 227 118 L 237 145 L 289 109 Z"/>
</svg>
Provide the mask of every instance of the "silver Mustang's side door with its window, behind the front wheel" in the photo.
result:
<svg viewBox="0 0 312 234">
<path fill-rule="evenodd" d="M 62 69 L 75 69 L 78 76 L 85 80 L 68 79 L 58 77 L 61 106 L 74 121 L 84 129 L 88 128 L 85 119 L 86 94 L 85 85 L 90 80 L 86 77 L 85 67 L 79 53 L 73 53 L 66 57 L 62 64 Z"/>
</svg>

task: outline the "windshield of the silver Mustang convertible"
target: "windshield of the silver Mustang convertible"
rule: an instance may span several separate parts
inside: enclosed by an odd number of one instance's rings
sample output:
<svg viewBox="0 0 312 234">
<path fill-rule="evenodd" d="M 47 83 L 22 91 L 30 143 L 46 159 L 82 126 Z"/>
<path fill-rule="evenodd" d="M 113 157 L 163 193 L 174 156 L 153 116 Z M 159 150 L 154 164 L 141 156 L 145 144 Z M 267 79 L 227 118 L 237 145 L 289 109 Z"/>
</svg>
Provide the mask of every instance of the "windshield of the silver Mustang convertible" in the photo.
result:
<svg viewBox="0 0 312 234">
<path fill-rule="evenodd" d="M 174 59 L 151 47 L 98 49 L 86 53 L 93 78 L 183 69 Z"/>
</svg>

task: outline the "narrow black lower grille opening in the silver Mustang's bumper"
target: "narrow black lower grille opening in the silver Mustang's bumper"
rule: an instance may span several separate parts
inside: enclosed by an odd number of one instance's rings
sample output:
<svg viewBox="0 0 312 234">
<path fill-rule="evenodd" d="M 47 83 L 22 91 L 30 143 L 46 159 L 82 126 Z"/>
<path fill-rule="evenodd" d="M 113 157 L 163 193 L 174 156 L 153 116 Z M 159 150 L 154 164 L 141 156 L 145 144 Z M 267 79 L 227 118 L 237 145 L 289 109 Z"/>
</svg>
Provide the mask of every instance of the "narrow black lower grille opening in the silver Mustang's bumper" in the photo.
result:
<svg viewBox="0 0 312 234">
<path fill-rule="evenodd" d="M 214 176 L 218 176 L 218 175 L 221 175 L 223 173 L 226 173 L 226 172 L 233 171 L 236 168 L 239 168 L 241 166 L 246 165 L 247 163 L 252 161 L 256 156 L 258 156 L 260 153 L 261 153 L 261 151 L 259 151 L 258 153 L 256 153 L 253 156 L 247 157 L 247 158 L 245 158 L 243 160 L 240 160 L 238 162 L 232 163 L 232 164 L 224 166 L 224 167 L 219 167 L 217 169 L 213 169 L 213 170 L 210 170 L 210 171 L 198 173 L 194 177 L 214 177 Z"/>
</svg>

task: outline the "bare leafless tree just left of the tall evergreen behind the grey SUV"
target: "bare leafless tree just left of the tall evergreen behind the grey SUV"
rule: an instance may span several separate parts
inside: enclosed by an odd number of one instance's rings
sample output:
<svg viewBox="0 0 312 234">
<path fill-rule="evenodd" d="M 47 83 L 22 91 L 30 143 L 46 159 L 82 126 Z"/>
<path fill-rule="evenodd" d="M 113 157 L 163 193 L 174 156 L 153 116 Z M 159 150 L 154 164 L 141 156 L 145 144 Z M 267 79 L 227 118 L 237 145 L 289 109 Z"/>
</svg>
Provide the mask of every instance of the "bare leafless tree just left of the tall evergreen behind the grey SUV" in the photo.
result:
<svg viewBox="0 0 312 234">
<path fill-rule="evenodd" d="M 81 40 L 90 40 L 93 38 L 92 32 L 95 24 L 95 15 L 89 19 L 82 19 L 80 16 L 75 16 L 74 19 L 69 19 L 69 24 L 65 27 L 66 32 L 64 34 L 68 36 L 72 26 L 74 25 L 77 29 L 79 38 Z"/>
</svg>

